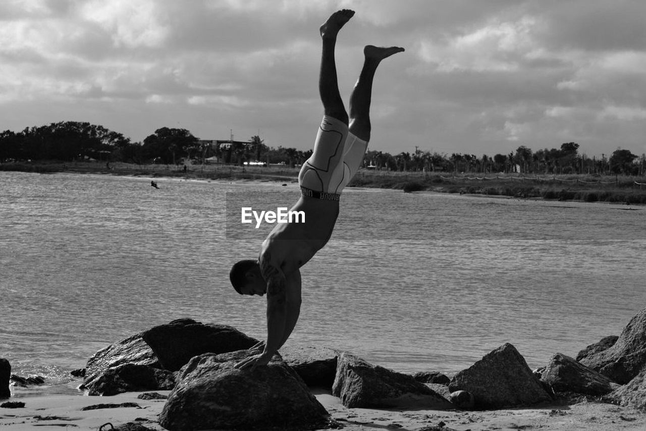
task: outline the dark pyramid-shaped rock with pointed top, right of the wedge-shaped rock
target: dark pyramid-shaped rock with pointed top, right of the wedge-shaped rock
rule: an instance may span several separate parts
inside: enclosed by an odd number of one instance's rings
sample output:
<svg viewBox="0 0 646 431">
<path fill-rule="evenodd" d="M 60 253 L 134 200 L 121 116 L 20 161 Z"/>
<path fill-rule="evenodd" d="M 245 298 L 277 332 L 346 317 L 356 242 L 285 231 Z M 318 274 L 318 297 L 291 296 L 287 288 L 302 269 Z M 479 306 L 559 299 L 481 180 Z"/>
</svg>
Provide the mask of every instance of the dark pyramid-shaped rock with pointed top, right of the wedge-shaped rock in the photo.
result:
<svg viewBox="0 0 646 431">
<path fill-rule="evenodd" d="M 449 389 L 473 394 L 476 408 L 531 406 L 552 400 L 525 358 L 509 343 L 453 376 Z"/>
</svg>

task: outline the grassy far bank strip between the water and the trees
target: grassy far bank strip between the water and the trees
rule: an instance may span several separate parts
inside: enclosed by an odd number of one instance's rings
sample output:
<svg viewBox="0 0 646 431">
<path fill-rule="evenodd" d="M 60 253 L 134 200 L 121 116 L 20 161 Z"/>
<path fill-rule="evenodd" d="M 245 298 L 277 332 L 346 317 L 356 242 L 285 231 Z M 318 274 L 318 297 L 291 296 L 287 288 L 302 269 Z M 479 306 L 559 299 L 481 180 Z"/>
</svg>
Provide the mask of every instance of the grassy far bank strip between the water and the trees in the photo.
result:
<svg viewBox="0 0 646 431">
<path fill-rule="evenodd" d="M 298 167 L 240 167 L 225 164 L 137 165 L 122 162 L 10 162 L 0 171 L 91 173 L 169 177 L 196 180 L 257 180 L 296 182 Z M 525 175 L 496 173 L 400 172 L 360 169 L 348 187 L 399 189 L 406 193 L 508 196 L 525 199 L 574 200 L 646 205 L 646 178 L 595 174 Z"/>
</svg>

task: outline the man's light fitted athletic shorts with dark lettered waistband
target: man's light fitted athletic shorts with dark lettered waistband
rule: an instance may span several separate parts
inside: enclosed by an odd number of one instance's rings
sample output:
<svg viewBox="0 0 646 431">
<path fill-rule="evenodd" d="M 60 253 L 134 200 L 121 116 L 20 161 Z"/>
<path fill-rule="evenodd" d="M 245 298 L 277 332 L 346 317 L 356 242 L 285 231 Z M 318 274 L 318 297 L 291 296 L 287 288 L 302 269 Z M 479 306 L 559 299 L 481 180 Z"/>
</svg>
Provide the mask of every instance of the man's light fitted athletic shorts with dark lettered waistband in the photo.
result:
<svg viewBox="0 0 646 431">
<path fill-rule="evenodd" d="M 348 131 L 348 125 L 324 116 L 318 128 L 314 152 L 298 173 L 303 196 L 339 200 L 343 187 L 357 173 L 368 142 Z"/>
</svg>

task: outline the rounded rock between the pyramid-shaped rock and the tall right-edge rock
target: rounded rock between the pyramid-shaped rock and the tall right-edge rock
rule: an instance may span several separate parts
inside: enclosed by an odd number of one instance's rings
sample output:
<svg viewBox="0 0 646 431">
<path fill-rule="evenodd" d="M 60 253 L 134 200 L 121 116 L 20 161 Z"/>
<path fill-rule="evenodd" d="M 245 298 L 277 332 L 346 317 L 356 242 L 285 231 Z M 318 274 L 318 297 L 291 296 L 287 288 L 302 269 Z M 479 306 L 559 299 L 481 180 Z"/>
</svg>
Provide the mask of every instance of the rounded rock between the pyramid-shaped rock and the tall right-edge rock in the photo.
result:
<svg viewBox="0 0 646 431">
<path fill-rule="evenodd" d="M 555 392 L 583 395 L 605 395 L 619 387 L 605 375 L 561 353 L 556 353 L 550 359 L 541 380 L 550 384 Z"/>
</svg>

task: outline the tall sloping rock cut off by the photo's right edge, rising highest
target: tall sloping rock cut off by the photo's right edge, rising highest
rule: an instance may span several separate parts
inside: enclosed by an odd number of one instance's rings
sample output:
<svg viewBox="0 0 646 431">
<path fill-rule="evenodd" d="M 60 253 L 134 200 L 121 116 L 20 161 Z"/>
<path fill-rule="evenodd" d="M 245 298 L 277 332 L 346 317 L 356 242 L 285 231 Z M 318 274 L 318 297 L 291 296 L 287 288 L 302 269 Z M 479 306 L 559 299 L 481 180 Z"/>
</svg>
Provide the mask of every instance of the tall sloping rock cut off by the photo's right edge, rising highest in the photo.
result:
<svg viewBox="0 0 646 431">
<path fill-rule="evenodd" d="M 646 308 L 630 319 L 612 347 L 580 362 L 616 383 L 629 383 L 646 366 Z"/>
</svg>

